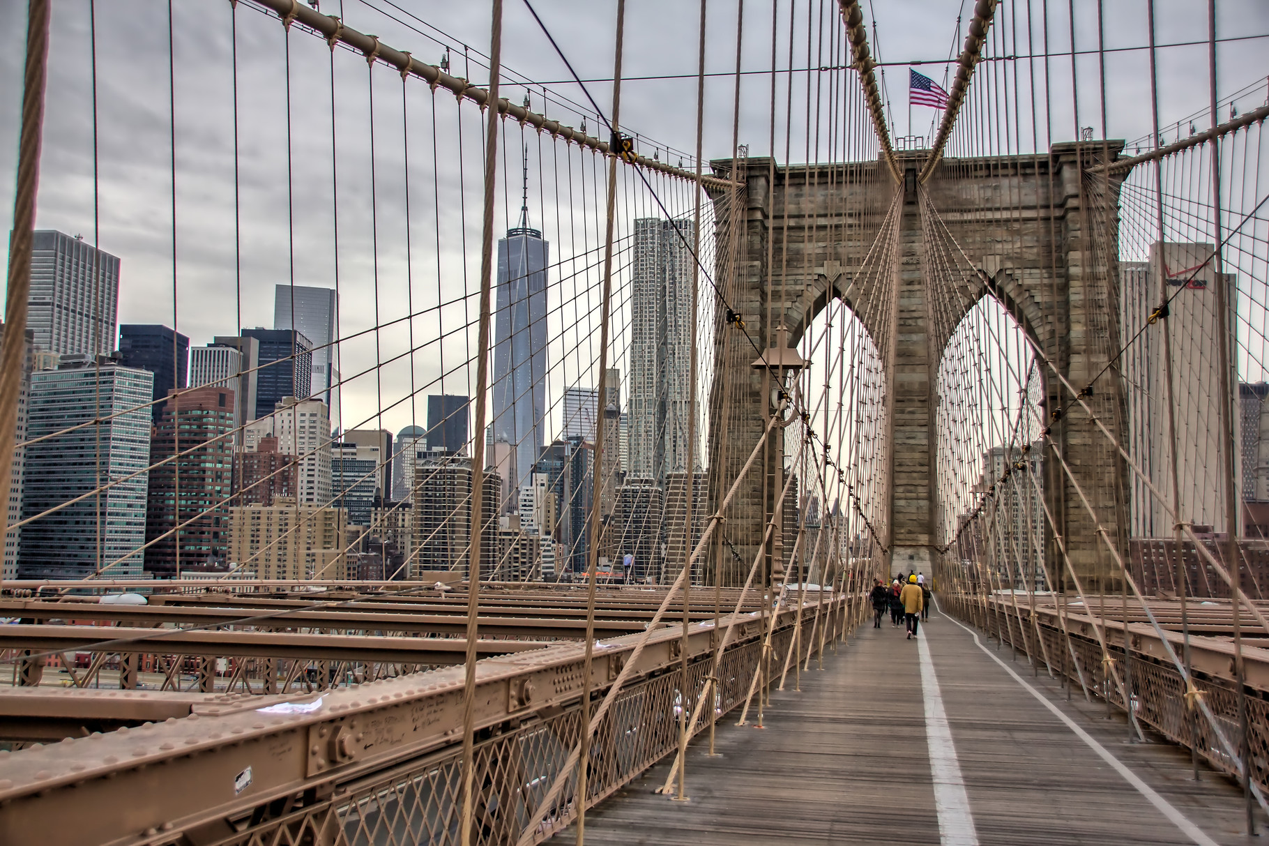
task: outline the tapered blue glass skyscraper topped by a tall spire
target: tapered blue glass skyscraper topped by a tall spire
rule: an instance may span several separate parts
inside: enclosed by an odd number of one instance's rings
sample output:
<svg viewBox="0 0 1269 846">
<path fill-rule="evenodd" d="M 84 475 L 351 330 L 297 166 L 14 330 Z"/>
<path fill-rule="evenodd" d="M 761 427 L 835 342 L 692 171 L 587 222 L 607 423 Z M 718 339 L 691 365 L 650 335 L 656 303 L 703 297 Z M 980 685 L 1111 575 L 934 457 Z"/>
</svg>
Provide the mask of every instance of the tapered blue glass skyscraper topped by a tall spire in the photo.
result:
<svg viewBox="0 0 1269 846">
<path fill-rule="evenodd" d="M 529 229 L 528 213 L 525 194 L 520 226 L 509 229 L 506 238 L 497 243 L 492 441 L 506 442 L 515 451 L 514 478 L 508 480 L 513 490 L 528 483 L 547 429 L 546 267 L 549 250 L 542 232 Z"/>
</svg>

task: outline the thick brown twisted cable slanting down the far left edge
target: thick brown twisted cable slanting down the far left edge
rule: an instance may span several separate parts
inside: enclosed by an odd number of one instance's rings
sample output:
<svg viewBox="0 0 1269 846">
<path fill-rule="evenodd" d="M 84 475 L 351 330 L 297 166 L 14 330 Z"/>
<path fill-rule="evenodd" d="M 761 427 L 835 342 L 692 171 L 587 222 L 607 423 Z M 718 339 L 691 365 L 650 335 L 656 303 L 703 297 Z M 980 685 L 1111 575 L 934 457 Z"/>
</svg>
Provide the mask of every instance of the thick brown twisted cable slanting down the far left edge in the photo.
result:
<svg viewBox="0 0 1269 846">
<path fill-rule="evenodd" d="M 48 0 L 27 4 L 27 65 L 22 85 L 22 130 L 18 136 L 18 187 L 13 201 L 13 238 L 5 291 L 5 332 L 0 340 L 0 490 L 9 490 L 22 389 L 30 253 L 36 231 L 39 147 L 44 123 L 44 77 L 48 70 Z M 0 508 L 0 537 L 8 534 L 9 509 Z M 0 584 L 4 584 L 0 570 Z"/>
</svg>

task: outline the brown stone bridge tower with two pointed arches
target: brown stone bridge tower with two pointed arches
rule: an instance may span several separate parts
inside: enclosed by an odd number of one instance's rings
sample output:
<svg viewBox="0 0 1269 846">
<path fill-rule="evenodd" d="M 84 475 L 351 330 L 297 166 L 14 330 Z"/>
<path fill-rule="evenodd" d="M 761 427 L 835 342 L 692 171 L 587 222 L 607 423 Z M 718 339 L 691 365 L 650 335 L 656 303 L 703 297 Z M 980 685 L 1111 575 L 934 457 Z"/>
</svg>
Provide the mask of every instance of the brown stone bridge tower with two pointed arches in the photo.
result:
<svg viewBox="0 0 1269 846">
<path fill-rule="evenodd" d="M 1062 144 L 1048 155 L 947 159 L 920 187 L 917 174 L 928 151 L 900 154 L 904 179 L 897 183 L 883 163 L 773 168 L 769 159 L 741 160 L 736 175 L 745 191 L 737 211 L 741 235 L 732 306 L 745 319 L 749 339 L 721 320 L 717 324 L 709 459 L 711 466 L 723 462 L 723 479 L 720 485 L 711 473 L 711 508 L 735 480 L 772 413 L 773 376 L 753 366 L 755 346 L 796 347 L 810 321 L 832 299 L 843 299 L 874 342 L 886 347 L 881 354 L 887 370 L 890 493 L 886 536 L 879 540 L 892 572 L 931 572 L 940 545 L 950 540 L 938 518 L 935 379 L 961 318 L 990 292 L 1052 365 L 1039 363 L 1044 414 L 1051 417 L 1044 448 L 1048 516 L 1037 516 L 1044 521 L 1046 565 L 1055 578 L 1061 574 L 1063 586 L 1074 570 L 1090 593 L 1117 591 L 1117 564 L 1099 528 L 1127 561 L 1126 465 L 1082 408 L 1071 408 L 1074 396 L 1062 380 L 1081 390 L 1110 363 L 1112 372 L 1096 381 L 1085 403 L 1127 443 L 1123 389 L 1110 362 L 1119 344 L 1118 265 L 1114 250 L 1104 249 L 1114 244 L 1118 184 L 1085 171 L 1121 146 Z M 733 171 L 730 160 L 712 165 L 720 175 Z M 963 252 L 964 258 L 957 257 L 959 273 L 950 279 L 933 278 L 923 191 Z M 1090 193 L 1098 194 L 1095 202 Z M 716 193 L 714 202 L 720 255 L 725 255 L 725 194 Z M 853 285 L 853 278 L 887 213 L 897 216 L 898 231 L 891 253 L 895 296 L 882 306 L 876 302 L 876 283 Z M 1109 241 L 1088 236 L 1099 227 L 1110 232 Z M 939 276 L 947 276 L 945 263 Z M 959 314 L 933 307 L 931 283 L 957 288 Z M 717 413 L 723 401 L 730 403 L 727 419 Z M 1057 408 L 1066 412 L 1052 419 Z M 783 438 L 773 437 L 725 514 L 723 528 L 740 560 L 730 551 L 714 559 L 723 584 L 742 583 L 758 555 L 784 487 L 783 467 Z M 782 558 L 777 531 L 764 553 L 768 573 L 778 570 Z"/>
</svg>

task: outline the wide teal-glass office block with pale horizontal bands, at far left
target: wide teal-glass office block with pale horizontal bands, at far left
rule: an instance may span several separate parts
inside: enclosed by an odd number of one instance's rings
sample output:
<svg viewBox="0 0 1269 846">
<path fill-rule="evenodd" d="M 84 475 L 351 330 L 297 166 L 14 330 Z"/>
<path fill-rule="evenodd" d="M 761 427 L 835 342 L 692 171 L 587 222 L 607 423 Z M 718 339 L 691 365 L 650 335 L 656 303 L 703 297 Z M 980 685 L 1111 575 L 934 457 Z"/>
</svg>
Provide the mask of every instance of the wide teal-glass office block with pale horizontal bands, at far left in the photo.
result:
<svg viewBox="0 0 1269 846">
<path fill-rule="evenodd" d="M 117 359 L 30 375 L 27 438 L 53 437 L 27 447 L 23 520 L 90 495 L 23 527 L 19 578 L 82 578 L 99 564 L 117 578 L 141 574 L 152 393 L 154 373 Z"/>
</svg>

